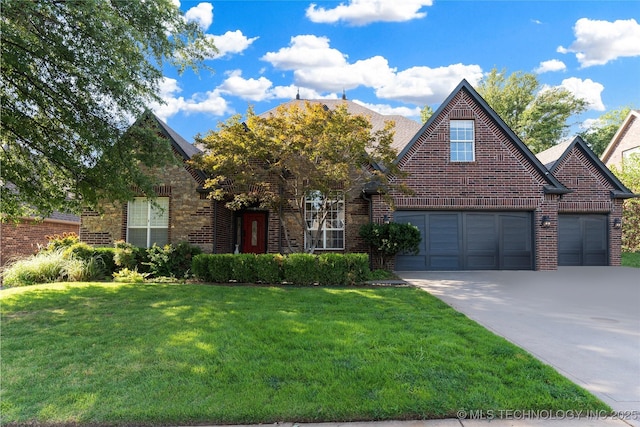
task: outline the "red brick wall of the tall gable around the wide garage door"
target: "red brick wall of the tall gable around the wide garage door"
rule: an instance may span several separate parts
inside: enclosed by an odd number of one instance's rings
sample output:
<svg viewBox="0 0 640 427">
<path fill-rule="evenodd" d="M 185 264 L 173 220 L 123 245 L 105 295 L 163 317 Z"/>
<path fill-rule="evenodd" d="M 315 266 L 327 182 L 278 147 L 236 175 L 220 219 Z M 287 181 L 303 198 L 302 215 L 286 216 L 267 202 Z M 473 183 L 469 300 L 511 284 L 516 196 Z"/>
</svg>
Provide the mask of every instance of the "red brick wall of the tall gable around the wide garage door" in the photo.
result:
<svg viewBox="0 0 640 427">
<path fill-rule="evenodd" d="M 451 162 L 449 121 L 474 120 L 475 161 Z M 466 90 L 459 91 L 415 141 L 399 165 L 413 194 L 393 194 L 396 209 L 534 212 L 536 269 L 557 268 L 557 228 L 540 229 L 557 216 L 557 196 L 545 195 L 545 177 Z M 374 220 L 392 217 L 378 197 Z M 554 223 L 557 223 L 555 221 Z"/>
</svg>

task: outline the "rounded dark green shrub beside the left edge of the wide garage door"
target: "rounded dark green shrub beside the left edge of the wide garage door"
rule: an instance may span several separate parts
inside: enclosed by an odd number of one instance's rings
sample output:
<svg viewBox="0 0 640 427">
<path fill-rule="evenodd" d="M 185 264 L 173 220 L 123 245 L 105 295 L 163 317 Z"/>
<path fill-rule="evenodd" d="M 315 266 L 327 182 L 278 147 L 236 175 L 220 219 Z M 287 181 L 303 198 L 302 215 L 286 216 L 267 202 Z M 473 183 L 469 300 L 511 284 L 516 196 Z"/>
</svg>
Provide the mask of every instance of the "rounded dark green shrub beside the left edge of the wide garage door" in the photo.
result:
<svg viewBox="0 0 640 427">
<path fill-rule="evenodd" d="M 360 237 L 371 246 L 382 268 L 387 268 L 400 252 L 417 254 L 422 240 L 418 227 L 397 222 L 364 224 L 360 227 Z"/>
</svg>

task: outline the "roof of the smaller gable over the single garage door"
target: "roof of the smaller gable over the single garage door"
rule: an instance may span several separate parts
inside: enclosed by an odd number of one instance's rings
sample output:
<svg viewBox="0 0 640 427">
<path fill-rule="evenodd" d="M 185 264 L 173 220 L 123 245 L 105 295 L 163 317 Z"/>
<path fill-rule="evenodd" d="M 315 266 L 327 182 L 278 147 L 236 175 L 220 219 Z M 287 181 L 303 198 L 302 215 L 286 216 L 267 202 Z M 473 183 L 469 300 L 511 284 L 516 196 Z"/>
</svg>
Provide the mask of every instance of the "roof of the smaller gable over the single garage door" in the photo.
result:
<svg viewBox="0 0 640 427">
<path fill-rule="evenodd" d="M 595 155 L 593 150 L 589 148 L 586 142 L 576 136 L 572 141 L 565 141 L 554 147 L 549 148 L 541 153 L 538 153 L 538 158 L 545 159 L 549 165 L 551 173 L 555 173 L 558 167 L 562 164 L 562 161 L 573 151 L 578 149 L 587 157 L 587 159 L 593 164 L 602 175 L 611 183 L 613 190 L 611 190 L 611 197 L 614 199 L 628 199 L 636 197 L 620 180 L 609 170 L 608 167 Z"/>
</svg>

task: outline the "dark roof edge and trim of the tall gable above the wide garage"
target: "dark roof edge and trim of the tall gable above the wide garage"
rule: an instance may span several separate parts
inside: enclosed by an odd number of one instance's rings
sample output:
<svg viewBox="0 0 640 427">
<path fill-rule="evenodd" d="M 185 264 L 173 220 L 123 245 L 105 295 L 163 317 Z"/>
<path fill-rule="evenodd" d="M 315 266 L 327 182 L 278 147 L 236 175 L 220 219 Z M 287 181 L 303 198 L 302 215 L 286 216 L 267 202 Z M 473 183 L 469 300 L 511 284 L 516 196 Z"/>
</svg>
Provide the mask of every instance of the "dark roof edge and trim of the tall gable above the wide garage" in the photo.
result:
<svg viewBox="0 0 640 427">
<path fill-rule="evenodd" d="M 459 92 L 466 91 L 473 101 L 493 120 L 493 122 L 513 141 L 515 147 L 524 155 L 524 157 L 531 163 L 533 168 L 537 170 L 541 176 L 547 181 L 547 185 L 544 186 L 546 193 L 552 194 L 565 194 L 571 192 L 567 189 L 556 177 L 549 172 L 549 170 L 538 160 L 538 158 L 531 152 L 529 147 L 507 126 L 507 124 L 500 118 L 500 116 L 493 111 L 493 108 L 487 104 L 487 102 L 480 96 L 478 92 L 469 84 L 469 82 L 463 79 L 458 86 L 451 92 L 451 94 L 445 99 L 440 107 L 431 115 L 429 120 L 422 126 L 422 128 L 416 133 L 413 139 L 404 147 L 402 152 L 398 155 L 396 162 L 400 160 L 411 150 L 413 145 L 420 139 L 420 137 L 426 132 L 431 124 L 437 120 L 442 111 L 453 101 Z"/>
</svg>

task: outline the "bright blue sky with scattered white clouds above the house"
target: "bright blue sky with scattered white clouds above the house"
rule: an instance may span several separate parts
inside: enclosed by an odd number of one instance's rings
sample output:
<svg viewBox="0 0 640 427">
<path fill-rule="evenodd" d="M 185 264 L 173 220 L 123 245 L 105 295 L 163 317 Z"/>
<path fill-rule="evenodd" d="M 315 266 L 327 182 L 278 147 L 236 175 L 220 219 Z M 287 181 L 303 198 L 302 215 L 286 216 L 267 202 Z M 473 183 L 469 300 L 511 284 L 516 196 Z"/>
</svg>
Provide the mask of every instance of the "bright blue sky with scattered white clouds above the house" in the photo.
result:
<svg viewBox="0 0 640 427">
<path fill-rule="evenodd" d="M 640 108 L 640 1 L 343 0 L 179 3 L 218 48 L 213 71 L 164 69 L 154 112 L 193 141 L 252 106 L 340 98 L 420 121 L 466 79 L 535 73 L 589 103 L 572 132 Z"/>
</svg>

